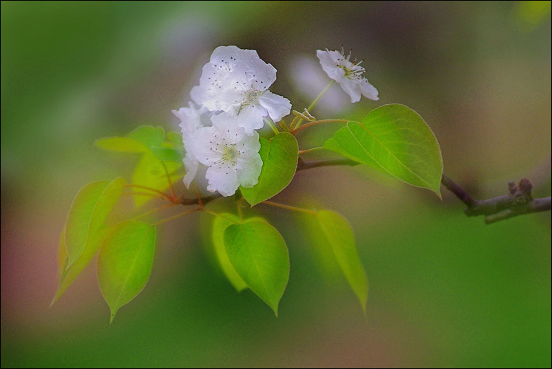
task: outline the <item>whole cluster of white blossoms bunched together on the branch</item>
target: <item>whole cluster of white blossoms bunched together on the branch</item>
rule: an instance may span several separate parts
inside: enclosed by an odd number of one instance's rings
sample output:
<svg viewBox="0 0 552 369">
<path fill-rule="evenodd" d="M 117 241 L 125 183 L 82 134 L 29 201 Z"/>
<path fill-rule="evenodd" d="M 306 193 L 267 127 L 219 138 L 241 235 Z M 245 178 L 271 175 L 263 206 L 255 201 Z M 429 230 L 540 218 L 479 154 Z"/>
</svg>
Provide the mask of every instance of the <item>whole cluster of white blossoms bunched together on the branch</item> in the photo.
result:
<svg viewBox="0 0 552 369">
<path fill-rule="evenodd" d="M 268 91 L 275 80 L 276 69 L 255 50 L 215 49 L 191 91 L 193 102 L 172 110 L 186 148 L 186 187 L 200 163 L 207 167 L 211 192 L 230 196 L 239 186 L 257 184 L 262 168 L 257 130 L 265 117 L 279 121 L 291 110 L 288 99 Z"/>
</svg>

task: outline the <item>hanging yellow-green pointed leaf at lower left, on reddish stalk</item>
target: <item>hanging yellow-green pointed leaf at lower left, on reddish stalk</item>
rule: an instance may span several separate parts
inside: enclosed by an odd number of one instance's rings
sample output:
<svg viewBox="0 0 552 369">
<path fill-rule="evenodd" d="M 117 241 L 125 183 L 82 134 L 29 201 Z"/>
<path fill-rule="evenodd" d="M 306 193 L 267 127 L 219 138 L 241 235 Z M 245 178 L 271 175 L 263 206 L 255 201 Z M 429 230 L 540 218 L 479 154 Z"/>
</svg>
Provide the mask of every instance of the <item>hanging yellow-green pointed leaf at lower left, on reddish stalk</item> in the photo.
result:
<svg viewBox="0 0 552 369">
<path fill-rule="evenodd" d="M 111 310 L 110 321 L 146 286 L 154 249 L 155 226 L 140 221 L 117 224 L 101 244 L 98 281 Z"/>
</svg>

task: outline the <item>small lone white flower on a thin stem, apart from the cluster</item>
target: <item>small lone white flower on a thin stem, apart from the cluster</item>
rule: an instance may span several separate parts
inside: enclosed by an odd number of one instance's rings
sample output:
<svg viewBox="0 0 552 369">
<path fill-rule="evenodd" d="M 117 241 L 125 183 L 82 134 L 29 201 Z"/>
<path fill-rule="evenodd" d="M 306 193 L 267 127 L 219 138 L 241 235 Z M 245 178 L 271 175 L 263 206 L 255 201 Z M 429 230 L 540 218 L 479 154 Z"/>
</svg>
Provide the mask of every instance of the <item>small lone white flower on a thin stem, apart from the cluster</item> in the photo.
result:
<svg viewBox="0 0 552 369">
<path fill-rule="evenodd" d="M 326 51 L 318 50 L 316 56 L 322 64 L 322 69 L 328 74 L 328 77 L 337 81 L 351 96 L 351 102 L 356 103 L 360 100 L 360 94 L 368 97 L 368 99 L 377 100 L 377 90 L 374 86 L 368 83 L 365 77 L 362 77 L 365 69 L 360 66 L 359 63 L 349 61 L 351 53 L 345 57 L 343 50 L 339 51 Z"/>
</svg>

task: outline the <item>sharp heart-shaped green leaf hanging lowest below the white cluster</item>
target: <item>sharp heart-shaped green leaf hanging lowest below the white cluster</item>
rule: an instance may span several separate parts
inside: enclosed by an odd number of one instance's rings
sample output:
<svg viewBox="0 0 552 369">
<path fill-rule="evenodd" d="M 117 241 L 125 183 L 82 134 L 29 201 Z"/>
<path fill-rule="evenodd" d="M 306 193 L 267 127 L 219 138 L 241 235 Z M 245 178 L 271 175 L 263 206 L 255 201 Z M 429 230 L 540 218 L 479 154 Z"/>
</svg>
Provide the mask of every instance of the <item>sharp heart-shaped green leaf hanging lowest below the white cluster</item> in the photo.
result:
<svg viewBox="0 0 552 369">
<path fill-rule="evenodd" d="M 276 228 L 263 221 L 232 224 L 224 231 L 224 246 L 239 277 L 278 316 L 289 279 L 289 256 Z"/>
</svg>

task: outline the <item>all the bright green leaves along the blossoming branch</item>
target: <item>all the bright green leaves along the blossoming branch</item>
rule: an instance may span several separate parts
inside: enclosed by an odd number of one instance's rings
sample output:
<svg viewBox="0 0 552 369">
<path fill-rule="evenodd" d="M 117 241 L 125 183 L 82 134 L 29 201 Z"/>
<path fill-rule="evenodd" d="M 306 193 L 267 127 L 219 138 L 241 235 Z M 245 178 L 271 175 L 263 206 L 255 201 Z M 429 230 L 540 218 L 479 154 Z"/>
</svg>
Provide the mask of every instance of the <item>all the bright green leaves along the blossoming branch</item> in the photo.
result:
<svg viewBox="0 0 552 369">
<path fill-rule="evenodd" d="M 289 132 L 279 132 L 270 140 L 260 138 L 259 141 L 263 162 L 259 182 L 253 188 L 240 188 L 250 206 L 244 207 L 246 203 L 238 196 L 213 201 L 218 205 L 209 204 L 207 208 L 199 203 L 197 209 L 188 212 L 204 210 L 215 216 L 210 234 L 204 237 L 213 242 L 215 259 L 222 272 L 238 292 L 249 288 L 277 316 L 289 279 L 288 249 L 282 235 L 258 217 L 253 206 L 288 186 L 297 170 L 299 145 Z M 183 164 L 184 145 L 179 133 L 165 135 L 163 128 L 141 126 L 126 137 L 100 139 L 96 144 L 104 150 L 139 155 L 130 185 L 133 187 L 130 194 L 137 206 L 155 197 L 171 201 L 172 205 L 185 203 L 172 192 L 172 183 L 182 177 L 179 168 Z M 442 161 L 437 140 L 422 118 L 406 106 L 382 106 L 368 114 L 362 123 L 347 123 L 326 141 L 324 148 L 439 195 Z M 52 303 L 63 295 L 98 250 L 99 286 L 110 306 L 111 320 L 146 285 L 155 249 L 155 224 L 135 220 L 111 228 L 103 224 L 125 183 L 122 177 L 90 183 L 73 201 L 59 243 L 60 281 Z M 169 187 L 171 193 L 167 194 Z M 193 201 L 186 203 L 192 205 Z M 324 256 L 346 277 L 366 314 L 368 279 L 346 219 L 331 210 L 270 204 L 308 214 L 317 250 L 324 248 Z M 239 216 L 232 214 L 236 206 Z M 170 219 L 173 217 L 166 220 Z"/>
</svg>

